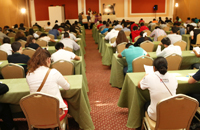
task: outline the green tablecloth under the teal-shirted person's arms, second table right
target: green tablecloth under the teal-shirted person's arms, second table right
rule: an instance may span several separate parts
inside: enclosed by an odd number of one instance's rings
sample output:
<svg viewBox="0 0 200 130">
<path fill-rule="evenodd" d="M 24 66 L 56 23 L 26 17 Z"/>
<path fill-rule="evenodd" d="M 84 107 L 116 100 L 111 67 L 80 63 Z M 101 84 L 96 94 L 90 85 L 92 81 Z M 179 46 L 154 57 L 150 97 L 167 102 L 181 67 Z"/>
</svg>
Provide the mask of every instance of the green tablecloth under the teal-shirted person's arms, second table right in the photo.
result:
<svg viewBox="0 0 200 130">
<path fill-rule="evenodd" d="M 121 88 L 124 82 L 123 68 L 127 66 L 125 58 L 118 58 L 118 54 L 113 54 L 112 67 L 110 75 L 110 84 L 113 87 Z M 149 52 L 149 55 L 155 59 L 156 52 Z M 190 69 L 191 65 L 194 63 L 200 63 L 200 58 L 196 57 L 191 51 L 182 51 L 182 63 L 180 69 Z"/>
</svg>

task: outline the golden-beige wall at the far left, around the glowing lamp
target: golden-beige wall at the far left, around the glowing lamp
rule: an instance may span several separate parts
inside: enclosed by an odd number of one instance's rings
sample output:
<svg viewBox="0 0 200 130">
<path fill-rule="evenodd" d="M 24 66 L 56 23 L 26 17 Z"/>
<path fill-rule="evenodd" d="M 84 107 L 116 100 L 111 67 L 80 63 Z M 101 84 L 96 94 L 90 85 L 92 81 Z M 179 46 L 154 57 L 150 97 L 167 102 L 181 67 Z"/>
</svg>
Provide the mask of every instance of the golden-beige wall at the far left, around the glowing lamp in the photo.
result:
<svg viewBox="0 0 200 130">
<path fill-rule="evenodd" d="M 24 20 L 27 25 L 27 16 L 21 14 L 21 8 L 26 8 L 25 0 L 0 0 L 0 27 L 5 25 L 11 27 L 14 24 L 24 23 Z"/>
</svg>

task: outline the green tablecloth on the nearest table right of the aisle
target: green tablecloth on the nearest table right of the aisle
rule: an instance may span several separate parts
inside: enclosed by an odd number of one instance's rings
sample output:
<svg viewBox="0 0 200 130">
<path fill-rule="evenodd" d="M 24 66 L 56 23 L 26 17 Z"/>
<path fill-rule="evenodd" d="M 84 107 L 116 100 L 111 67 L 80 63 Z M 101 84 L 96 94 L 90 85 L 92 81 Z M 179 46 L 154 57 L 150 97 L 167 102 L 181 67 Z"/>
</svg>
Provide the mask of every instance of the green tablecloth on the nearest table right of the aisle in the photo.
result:
<svg viewBox="0 0 200 130">
<path fill-rule="evenodd" d="M 178 77 L 186 77 L 188 73 L 195 73 L 197 70 L 179 70 L 169 71 L 169 73 L 180 74 Z M 142 124 L 144 117 L 144 104 L 150 101 L 149 91 L 141 90 L 137 87 L 138 82 L 144 77 L 144 72 L 127 73 L 118 106 L 128 108 L 128 121 L 126 126 L 129 128 L 138 128 Z M 178 80 L 177 93 L 191 94 L 200 93 L 199 84 L 188 84 L 187 81 Z"/>
</svg>

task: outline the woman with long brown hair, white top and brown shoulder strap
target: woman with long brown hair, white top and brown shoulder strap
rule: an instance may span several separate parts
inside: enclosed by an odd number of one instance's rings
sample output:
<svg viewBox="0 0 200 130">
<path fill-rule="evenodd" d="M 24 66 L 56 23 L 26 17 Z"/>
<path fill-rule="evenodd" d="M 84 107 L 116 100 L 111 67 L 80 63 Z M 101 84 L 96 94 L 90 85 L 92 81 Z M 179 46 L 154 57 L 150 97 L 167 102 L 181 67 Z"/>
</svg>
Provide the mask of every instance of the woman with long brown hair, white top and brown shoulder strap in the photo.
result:
<svg viewBox="0 0 200 130">
<path fill-rule="evenodd" d="M 28 62 L 28 73 L 26 81 L 30 88 L 30 93 L 34 93 L 41 85 L 49 67 L 51 65 L 51 54 L 42 48 L 38 48 L 32 58 Z M 67 79 L 56 69 L 52 69 L 47 77 L 47 80 L 40 92 L 50 94 L 59 99 L 60 118 L 68 112 L 67 102 L 61 97 L 59 86 L 68 90 L 70 84 Z"/>
</svg>

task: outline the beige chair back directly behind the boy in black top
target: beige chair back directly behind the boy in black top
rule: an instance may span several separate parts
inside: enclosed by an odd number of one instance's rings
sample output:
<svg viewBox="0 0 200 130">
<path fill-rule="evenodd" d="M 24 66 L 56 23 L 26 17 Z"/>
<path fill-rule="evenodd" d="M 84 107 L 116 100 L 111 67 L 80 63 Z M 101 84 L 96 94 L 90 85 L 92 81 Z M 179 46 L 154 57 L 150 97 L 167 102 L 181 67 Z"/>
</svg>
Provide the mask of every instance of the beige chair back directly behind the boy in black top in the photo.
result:
<svg viewBox="0 0 200 130">
<path fill-rule="evenodd" d="M 24 78 L 24 68 L 18 64 L 9 63 L 1 68 L 4 79 Z"/>
</svg>

